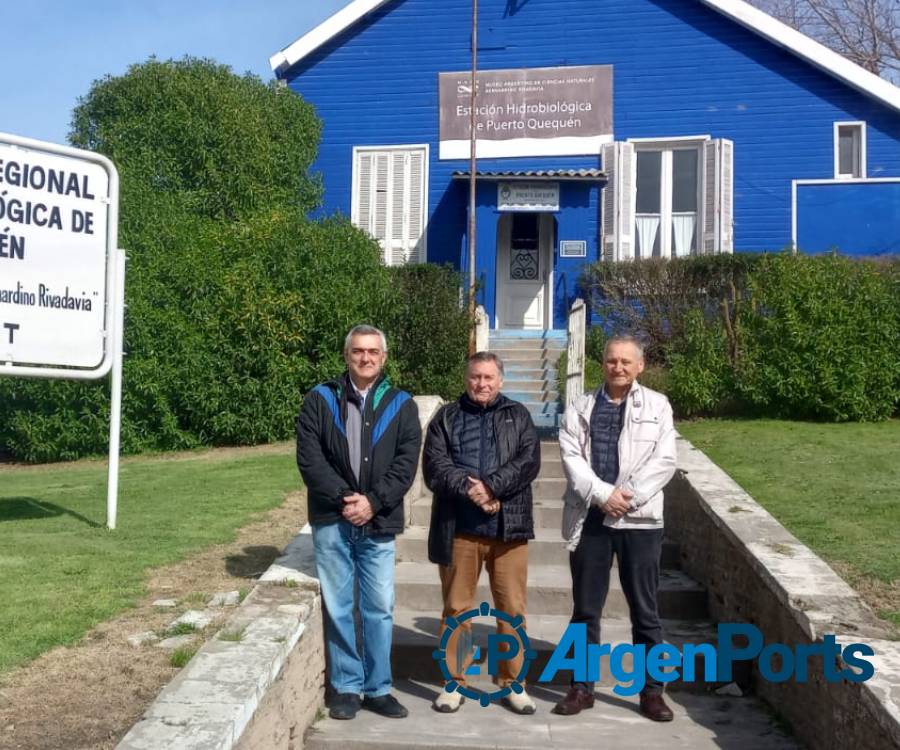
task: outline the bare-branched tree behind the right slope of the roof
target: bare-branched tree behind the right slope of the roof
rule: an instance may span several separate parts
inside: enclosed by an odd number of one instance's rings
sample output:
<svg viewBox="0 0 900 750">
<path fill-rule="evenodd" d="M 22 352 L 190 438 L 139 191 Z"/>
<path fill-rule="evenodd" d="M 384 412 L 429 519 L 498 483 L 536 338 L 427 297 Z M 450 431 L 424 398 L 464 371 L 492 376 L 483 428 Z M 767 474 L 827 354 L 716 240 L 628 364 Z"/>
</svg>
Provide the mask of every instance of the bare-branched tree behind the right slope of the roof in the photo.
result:
<svg viewBox="0 0 900 750">
<path fill-rule="evenodd" d="M 900 84 L 898 0 L 750 0 L 866 70 Z"/>
</svg>

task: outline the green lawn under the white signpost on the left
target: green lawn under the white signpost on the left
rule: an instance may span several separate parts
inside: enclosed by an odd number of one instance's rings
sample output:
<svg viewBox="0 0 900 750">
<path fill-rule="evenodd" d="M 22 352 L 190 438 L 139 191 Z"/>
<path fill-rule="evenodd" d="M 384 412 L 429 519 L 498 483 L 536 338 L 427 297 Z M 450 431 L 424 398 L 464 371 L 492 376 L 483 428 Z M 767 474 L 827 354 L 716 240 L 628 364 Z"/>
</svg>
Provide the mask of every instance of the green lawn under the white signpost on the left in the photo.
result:
<svg viewBox="0 0 900 750">
<path fill-rule="evenodd" d="M 0 468 L 0 673 L 121 612 L 149 568 L 234 538 L 300 479 L 277 453 L 139 458 L 120 472 L 106 529 L 106 466 Z"/>
</svg>

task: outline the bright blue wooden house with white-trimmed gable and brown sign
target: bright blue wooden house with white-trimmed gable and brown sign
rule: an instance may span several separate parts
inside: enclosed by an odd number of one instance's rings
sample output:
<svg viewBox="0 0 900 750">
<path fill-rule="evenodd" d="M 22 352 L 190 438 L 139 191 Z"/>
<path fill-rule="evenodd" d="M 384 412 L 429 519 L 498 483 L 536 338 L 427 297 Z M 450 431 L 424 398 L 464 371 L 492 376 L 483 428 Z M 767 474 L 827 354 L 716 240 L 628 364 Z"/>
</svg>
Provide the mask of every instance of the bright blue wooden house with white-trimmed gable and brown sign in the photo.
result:
<svg viewBox="0 0 900 750">
<path fill-rule="evenodd" d="M 466 270 L 471 0 L 354 0 L 271 58 L 322 211 Z M 481 0 L 477 275 L 565 325 L 598 259 L 900 252 L 900 89 L 740 0 Z"/>
</svg>

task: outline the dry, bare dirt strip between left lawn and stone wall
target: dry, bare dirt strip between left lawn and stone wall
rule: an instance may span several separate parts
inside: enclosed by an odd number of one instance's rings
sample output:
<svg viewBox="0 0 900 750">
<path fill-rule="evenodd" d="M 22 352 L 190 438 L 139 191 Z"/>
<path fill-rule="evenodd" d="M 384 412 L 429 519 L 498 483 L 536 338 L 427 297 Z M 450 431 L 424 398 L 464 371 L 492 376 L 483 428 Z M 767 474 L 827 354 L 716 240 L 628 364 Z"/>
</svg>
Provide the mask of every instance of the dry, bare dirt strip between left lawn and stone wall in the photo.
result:
<svg viewBox="0 0 900 750">
<path fill-rule="evenodd" d="M 193 457 L 202 454 L 183 456 Z M 153 571 L 137 607 L 98 625 L 78 645 L 54 649 L 0 676 L 0 748 L 115 747 L 178 673 L 169 664 L 171 651 L 134 647 L 128 637 L 163 631 L 180 613 L 204 609 L 213 594 L 247 593 L 305 521 L 305 493 L 292 493 L 262 520 L 240 529 L 234 542 Z M 154 607 L 158 599 L 175 599 L 178 606 Z M 230 611 L 221 609 L 218 622 Z M 216 629 L 214 622 L 194 635 L 194 644 Z"/>
</svg>

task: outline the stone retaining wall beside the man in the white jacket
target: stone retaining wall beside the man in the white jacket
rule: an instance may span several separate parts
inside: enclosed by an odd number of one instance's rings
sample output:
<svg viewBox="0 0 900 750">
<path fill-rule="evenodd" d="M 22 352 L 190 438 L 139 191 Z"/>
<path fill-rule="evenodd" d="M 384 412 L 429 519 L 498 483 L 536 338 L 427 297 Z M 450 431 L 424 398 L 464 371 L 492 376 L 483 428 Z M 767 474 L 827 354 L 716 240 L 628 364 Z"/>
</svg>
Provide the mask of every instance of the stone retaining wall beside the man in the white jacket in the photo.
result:
<svg viewBox="0 0 900 750">
<path fill-rule="evenodd" d="M 805 684 L 772 683 L 753 670 L 753 688 L 816 750 L 900 748 L 900 643 L 828 565 L 801 544 L 688 441 L 666 491 L 666 528 L 685 571 L 709 591 L 719 622 L 756 625 L 766 643 L 811 644 L 834 634 L 876 653 L 865 683 L 828 683 L 821 657 Z M 778 666 L 778 665 L 776 665 Z M 840 664 L 839 668 L 844 665 Z"/>
</svg>

